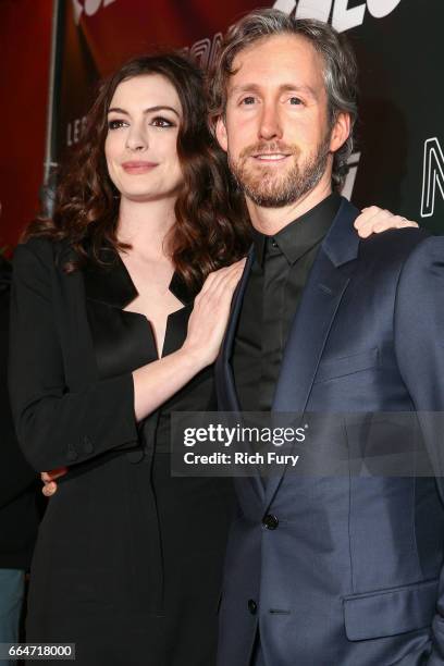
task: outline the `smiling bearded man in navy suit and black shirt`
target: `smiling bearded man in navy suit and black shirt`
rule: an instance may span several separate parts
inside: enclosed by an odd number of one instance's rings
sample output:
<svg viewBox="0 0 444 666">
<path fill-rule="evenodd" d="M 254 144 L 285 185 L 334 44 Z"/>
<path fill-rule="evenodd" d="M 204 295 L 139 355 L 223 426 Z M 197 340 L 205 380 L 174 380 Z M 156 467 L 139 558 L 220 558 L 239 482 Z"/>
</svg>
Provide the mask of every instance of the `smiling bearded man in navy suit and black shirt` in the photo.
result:
<svg viewBox="0 0 444 666">
<path fill-rule="evenodd" d="M 443 239 L 360 242 L 337 194 L 356 78 L 342 36 L 276 10 L 222 46 L 212 116 L 254 226 L 217 366 L 222 410 L 444 409 Z M 220 666 L 444 664 L 441 479 L 281 472 L 236 486 Z"/>
</svg>

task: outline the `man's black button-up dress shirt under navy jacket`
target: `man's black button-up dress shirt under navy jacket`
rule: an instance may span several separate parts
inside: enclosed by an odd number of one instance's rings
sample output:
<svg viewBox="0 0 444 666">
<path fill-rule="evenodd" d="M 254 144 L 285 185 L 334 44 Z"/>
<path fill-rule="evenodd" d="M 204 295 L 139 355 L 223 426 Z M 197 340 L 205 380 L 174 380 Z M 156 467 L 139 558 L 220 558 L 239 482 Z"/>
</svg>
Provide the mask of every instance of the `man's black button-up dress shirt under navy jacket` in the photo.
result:
<svg viewBox="0 0 444 666">
<path fill-rule="evenodd" d="M 269 411 L 292 321 L 341 205 L 331 194 L 274 236 L 254 230 L 255 260 L 237 325 L 233 372 L 240 408 Z"/>
</svg>

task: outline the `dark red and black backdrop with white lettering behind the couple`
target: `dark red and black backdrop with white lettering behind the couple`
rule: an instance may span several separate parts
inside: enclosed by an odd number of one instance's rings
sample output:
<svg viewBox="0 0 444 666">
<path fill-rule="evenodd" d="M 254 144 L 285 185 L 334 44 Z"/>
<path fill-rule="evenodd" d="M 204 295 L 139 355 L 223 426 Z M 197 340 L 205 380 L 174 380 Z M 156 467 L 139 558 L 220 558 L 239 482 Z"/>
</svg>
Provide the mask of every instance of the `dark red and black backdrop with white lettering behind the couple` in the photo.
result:
<svg viewBox="0 0 444 666">
<path fill-rule="evenodd" d="M 65 0 L 61 4 L 55 161 L 78 141 L 101 76 L 158 45 L 188 49 L 208 67 L 231 23 L 248 10 L 272 5 L 260 0 Z M 444 233 L 443 0 L 278 0 L 274 7 L 331 22 L 347 32 L 356 49 L 360 122 L 344 194 L 359 207 L 378 203 Z M 42 32 L 41 40 L 48 39 L 49 32 Z M 45 78 L 41 84 L 45 88 Z M 18 84 L 27 85 L 33 82 Z M 26 155 L 26 140 L 20 135 L 16 147 Z M 22 178 L 33 169 L 42 174 L 41 162 L 25 160 L 23 166 Z M 10 243 L 24 223 L 10 214 L 15 196 L 18 186 L 1 193 L 1 239 Z M 37 197 L 34 208 L 36 203 Z M 30 217 L 34 211 L 27 212 Z"/>
</svg>

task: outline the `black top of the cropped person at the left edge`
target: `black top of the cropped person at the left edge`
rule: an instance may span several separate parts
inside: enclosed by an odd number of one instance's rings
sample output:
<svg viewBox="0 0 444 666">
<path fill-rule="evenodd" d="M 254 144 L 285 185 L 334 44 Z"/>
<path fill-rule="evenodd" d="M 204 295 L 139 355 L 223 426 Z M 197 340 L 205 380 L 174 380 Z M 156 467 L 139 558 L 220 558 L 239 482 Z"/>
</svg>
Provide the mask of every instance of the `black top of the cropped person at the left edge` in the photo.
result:
<svg viewBox="0 0 444 666">
<path fill-rule="evenodd" d="M 0 567 L 27 569 L 37 535 L 36 472 L 16 441 L 7 385 L 11 267 L 0 256 Z"/>
</svg>

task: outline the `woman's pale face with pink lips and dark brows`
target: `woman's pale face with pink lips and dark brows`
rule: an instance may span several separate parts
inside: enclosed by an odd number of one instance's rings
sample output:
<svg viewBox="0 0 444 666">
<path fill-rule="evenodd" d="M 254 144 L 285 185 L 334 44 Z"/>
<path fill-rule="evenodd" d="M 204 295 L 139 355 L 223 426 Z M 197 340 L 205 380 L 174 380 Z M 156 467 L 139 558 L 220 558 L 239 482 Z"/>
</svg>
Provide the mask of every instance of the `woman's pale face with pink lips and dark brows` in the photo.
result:
<svg viewBox="0 0 444 666">
<path fill-rule="evenodd" d="M 175 197 L 183 176 L 177 157 L 182 104 L 160 74 L 123 81 L 108 112 L 104 155 L 122 198 L 150 201 Z"/>
</svg>

